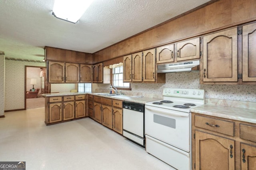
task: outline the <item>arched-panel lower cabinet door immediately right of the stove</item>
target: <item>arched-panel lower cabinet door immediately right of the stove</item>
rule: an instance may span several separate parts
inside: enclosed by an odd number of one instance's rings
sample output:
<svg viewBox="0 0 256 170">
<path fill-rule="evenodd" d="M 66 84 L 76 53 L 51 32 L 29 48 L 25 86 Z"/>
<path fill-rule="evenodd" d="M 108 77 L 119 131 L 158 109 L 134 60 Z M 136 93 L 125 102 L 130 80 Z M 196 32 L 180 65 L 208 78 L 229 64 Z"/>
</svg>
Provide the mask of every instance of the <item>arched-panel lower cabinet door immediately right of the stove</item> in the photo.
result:
<svg viewBox="0 0 256 170">
<path fill-rule="evenodd" d="M 196 131 L 196 170 L 234 170 L 234 140 Z"/>
</svg>

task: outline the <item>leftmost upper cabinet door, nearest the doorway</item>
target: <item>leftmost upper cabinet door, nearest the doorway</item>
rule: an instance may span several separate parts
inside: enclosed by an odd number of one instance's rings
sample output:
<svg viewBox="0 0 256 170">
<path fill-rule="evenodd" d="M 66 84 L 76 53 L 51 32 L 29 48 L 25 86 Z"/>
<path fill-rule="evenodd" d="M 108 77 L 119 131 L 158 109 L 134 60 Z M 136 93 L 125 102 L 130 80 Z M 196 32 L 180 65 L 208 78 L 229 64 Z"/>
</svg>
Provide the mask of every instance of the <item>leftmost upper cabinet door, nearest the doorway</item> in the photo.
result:
<svg viewBox="0 0 256 170">
<path fill-rule="evenodd" d="M 49 83 L 64 83 L 64 63 L 49 61 L 48 69 Z"/>
</svg>

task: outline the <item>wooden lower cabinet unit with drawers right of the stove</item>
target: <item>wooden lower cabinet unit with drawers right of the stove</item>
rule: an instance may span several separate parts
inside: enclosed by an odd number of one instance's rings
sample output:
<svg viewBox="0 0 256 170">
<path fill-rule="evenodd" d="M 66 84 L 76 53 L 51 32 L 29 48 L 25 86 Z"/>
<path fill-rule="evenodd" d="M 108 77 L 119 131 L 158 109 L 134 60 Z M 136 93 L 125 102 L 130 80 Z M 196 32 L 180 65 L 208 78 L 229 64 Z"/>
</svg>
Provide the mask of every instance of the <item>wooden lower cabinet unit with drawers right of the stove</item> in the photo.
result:
<svg viewBox="0 0 256 170">
<path fill-rule="evenodd" d="M 256 124 L 192 113 L 192 169 L 254 170 Z"/>
</svg>

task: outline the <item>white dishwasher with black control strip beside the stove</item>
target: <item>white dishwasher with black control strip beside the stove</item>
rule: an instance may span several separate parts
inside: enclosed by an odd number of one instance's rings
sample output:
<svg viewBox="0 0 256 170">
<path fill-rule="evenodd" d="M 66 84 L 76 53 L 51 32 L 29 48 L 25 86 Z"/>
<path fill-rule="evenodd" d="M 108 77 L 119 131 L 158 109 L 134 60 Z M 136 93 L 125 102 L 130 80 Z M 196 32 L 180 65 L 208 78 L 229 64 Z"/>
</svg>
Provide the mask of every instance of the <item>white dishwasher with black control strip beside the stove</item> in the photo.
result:
<svg viewBox="0 0 256 170">
<path fill-rule="evenodd" d="M 144 104 L 123 102 L 123 136 L 145 147 Z"/>
</svg>

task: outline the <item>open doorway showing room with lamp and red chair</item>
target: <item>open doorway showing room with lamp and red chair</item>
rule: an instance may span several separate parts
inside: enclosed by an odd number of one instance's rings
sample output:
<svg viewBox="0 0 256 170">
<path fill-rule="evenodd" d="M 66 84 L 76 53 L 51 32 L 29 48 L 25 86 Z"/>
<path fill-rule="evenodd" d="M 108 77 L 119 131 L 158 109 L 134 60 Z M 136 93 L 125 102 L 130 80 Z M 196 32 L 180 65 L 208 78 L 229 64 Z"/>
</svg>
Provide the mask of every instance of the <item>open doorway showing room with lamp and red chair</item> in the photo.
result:
<svg viewBox="0 0 256 170">
<path fill-rule="evenodd" d="M 25 66 L 25 109 L 44 107 L 42 94 L 50 93 L 46 75 L 46 67 Z"/>
</svg>

